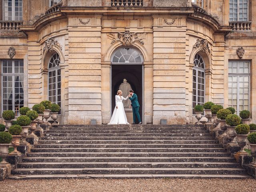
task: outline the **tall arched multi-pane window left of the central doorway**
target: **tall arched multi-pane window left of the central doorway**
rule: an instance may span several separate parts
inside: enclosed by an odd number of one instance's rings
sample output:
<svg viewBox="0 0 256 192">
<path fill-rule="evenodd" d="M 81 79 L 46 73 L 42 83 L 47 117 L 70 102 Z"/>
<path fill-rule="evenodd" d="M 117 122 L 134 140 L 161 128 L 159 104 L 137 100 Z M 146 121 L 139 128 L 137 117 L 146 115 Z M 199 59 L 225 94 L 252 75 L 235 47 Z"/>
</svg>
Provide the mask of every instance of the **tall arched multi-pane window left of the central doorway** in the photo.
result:
<svg viewBox="0 0 256 192">
<path fill-rule="evenodd" d="M 48 99 L 61 106 L 60 56 L 54 54 L 48 68 Z M 60 113 L 60 112 L 59 112 Z"/>
</svg>

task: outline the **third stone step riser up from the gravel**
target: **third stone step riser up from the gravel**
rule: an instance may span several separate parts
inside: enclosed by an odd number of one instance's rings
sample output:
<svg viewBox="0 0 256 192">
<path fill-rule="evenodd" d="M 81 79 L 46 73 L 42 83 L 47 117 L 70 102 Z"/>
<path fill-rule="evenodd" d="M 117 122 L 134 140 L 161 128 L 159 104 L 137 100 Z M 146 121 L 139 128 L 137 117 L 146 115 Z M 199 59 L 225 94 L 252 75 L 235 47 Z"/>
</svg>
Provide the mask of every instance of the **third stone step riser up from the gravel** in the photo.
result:
<svg viewBox="0 0 256 192">
<path fill-rule="evenodd" d="M 239 164 L 151 164 L 151 163 L 73 163 L 19 164 L 18 168 L 240 168 Z"/>
</svg>

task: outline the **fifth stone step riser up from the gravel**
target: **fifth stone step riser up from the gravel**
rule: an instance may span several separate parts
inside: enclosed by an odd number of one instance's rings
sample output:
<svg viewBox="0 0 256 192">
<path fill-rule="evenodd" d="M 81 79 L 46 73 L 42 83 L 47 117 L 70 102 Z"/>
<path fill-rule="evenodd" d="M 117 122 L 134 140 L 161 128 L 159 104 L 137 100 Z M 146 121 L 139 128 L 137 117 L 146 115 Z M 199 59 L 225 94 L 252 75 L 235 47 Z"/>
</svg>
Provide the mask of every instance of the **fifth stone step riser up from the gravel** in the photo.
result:
<svg viewBox="0 0 256 192">
<path fill-rule="evenodd" d="M 228 153 L 29 153 L 28 157 L 230 157 Z"/>
</svg>

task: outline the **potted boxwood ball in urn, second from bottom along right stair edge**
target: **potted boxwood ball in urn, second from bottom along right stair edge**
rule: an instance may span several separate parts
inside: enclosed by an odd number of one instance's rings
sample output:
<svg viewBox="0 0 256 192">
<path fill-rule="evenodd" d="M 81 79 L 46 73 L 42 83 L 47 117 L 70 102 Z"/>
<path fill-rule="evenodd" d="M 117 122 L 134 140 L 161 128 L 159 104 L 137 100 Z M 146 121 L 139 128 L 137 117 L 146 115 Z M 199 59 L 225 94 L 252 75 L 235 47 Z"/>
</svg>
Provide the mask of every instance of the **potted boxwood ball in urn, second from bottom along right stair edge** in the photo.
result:
<svg viewBox="0 0 256 192">
<path fill-rule="evenodd" d="M 244 146 L 246 146 L 246 139 L 249 132 L 250 126 L 247 124 L 240 124 L 236 126 L 238 145 L 241 147 L 240 153 L 247 154 L 246 151 L 244 151 Z"/>
</svg>

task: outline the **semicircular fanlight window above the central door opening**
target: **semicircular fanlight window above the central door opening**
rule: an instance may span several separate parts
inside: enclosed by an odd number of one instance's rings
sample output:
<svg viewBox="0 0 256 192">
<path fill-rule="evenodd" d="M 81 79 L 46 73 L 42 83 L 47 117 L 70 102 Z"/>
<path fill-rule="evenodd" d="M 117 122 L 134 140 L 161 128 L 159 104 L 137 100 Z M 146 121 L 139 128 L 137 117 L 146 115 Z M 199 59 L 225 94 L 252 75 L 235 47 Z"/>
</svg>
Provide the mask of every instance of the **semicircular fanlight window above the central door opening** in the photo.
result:
<svg viewBox="0 0 256 192">
<path fill-rule="evenodd" d="M 112 63 L 123 64 L 142 64 L 142 55 L 132 48 L 118 49 L 112 58 Z"/>
</svg>

